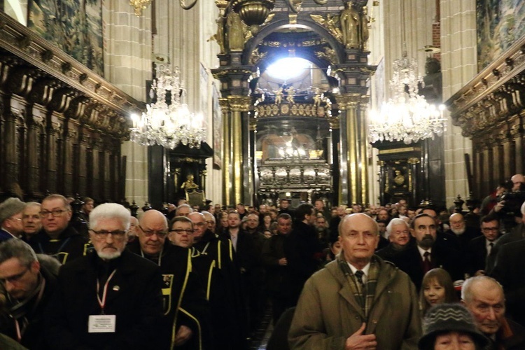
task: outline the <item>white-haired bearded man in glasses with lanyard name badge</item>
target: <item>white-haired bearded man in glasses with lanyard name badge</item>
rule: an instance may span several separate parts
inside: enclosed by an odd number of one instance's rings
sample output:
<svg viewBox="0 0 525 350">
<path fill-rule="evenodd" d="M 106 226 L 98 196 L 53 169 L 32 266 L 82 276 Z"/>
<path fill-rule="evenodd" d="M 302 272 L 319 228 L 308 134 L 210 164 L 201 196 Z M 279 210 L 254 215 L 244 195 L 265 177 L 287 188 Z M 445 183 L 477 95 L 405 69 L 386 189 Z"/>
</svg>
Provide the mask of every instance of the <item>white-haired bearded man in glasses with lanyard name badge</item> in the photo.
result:
<svg viewBox="0 0 525 350">
<path fill-rule="evenodd" d="M 94 253 L 60 269 L 45 319 L 50 349 L 160 349 L 162 274 L 125 249 L 130 217 L 115 203 L 90 213 Z"/>
</svg>

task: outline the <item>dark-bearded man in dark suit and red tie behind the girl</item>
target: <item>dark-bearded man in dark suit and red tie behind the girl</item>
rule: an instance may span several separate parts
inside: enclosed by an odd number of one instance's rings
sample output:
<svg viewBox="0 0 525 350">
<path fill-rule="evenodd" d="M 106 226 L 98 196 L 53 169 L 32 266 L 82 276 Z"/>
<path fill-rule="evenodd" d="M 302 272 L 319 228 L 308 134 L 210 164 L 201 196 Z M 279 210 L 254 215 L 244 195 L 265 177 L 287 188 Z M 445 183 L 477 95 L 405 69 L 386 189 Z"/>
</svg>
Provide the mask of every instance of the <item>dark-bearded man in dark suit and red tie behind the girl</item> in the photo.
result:
<svg viewBox="0 0 525 350">
<path fill-rule="evenodd" d="M 410 276 L 418 290 L 423 276 L 435 267 L 447 270 L 453 281 L 463 277 L 459 266 L 459 252 L 440 244 L 436 240 L 436 232 L 437 223 L 432 216 L 416 216 L 410 225 L 410 234 L 416 239 L 416 244 L 402 251 L 395 262 Z"/>
</svg>

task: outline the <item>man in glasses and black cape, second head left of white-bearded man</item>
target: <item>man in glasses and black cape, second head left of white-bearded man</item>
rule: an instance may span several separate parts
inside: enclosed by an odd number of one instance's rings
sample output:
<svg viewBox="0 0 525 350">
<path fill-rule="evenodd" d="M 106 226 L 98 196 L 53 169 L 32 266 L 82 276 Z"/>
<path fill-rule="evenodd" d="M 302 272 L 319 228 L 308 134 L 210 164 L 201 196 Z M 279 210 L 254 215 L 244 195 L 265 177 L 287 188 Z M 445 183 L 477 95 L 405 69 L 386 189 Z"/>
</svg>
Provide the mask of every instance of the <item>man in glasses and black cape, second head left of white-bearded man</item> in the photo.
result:
<svg viewBox="0 0 525 350">
<path fill-rule="evenodd" d="M 66 197 L 56 194 L 45 197 L 40 217 L 42 230 L 29 240 L 29 245 L 36 253 L 52 255 L 65 264 L 86 255 L 90 250 L 88 239 L 69 225 L 71 207 Z"/>
</svg>

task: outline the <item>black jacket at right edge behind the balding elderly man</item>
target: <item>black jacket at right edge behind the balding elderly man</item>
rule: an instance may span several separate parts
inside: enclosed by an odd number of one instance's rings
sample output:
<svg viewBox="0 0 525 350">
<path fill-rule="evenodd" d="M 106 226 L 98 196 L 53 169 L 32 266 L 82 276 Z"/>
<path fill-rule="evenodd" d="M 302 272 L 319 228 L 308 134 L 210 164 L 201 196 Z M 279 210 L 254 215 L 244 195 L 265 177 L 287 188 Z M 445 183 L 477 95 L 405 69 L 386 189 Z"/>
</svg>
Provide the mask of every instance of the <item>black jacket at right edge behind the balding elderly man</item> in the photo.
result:
<svg viewBox="0 0 525 350">
<path fill-rule="evenodd" d="M 500 247 L 491 277 L 503 286 L 507 315 L 525 324 L 525 239 Z"/>
</svg>

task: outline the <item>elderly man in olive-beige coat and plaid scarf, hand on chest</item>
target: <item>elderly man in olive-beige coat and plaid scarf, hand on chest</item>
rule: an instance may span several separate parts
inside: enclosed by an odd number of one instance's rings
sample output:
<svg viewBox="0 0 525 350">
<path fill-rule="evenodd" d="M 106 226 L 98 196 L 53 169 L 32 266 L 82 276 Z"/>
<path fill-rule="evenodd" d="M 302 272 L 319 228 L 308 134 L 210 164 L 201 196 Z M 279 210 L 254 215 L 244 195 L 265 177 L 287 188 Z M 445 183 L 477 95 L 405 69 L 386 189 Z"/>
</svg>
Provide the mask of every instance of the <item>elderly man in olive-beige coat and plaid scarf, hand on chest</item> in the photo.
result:
<svg viewBox="0 0 525 350">
<path fill-rule="evenodd" d="M 339 224 L 342 252 L 304 285 L 291 349 L 417 349 L 421 319 L 409 276 L 374 249 L 377 223 L 365 214 Z"/>
</svg>

